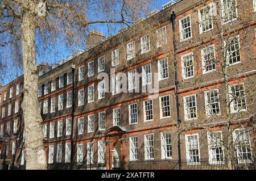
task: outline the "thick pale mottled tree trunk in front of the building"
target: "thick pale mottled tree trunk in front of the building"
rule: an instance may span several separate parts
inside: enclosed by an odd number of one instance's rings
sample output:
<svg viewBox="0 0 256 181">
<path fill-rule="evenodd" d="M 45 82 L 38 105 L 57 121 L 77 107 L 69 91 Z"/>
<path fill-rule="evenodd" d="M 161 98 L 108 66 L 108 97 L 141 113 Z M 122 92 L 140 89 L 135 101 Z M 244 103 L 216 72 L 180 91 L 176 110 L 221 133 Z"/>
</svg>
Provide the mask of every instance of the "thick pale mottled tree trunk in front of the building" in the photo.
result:
<svg viewBox="0 0 256 181">
<path fill-rule="evenodd" d="M 26 131 L 26 169 L 46 169 L 42 117 L 38 108 L 38 71 L 35 52 L 35 20 L 25 12 L 22 22 L 24 99 L 22 110 Z"/>
</svg>

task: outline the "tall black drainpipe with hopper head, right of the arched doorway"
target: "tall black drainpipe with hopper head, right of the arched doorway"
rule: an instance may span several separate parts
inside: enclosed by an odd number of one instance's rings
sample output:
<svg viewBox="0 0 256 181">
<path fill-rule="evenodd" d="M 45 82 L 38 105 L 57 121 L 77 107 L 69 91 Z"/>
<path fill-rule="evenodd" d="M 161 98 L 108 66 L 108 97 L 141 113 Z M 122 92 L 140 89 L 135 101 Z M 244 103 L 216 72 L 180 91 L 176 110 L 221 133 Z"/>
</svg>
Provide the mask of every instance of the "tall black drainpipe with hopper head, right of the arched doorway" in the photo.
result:
<svg viewBox="0 0 256 181">
<path fill-rule="evenodd" d="M 178 94 L 178 77 L 177 77 L 177 45 L 176 45 L 176 36 L 175 36 L 175 18 L 176 14 L 174 11 L 172 11 L 171 14 L 171 23 L 172 23 L 172 42 L 174 44 L 174 68 L 175 68 L 175 98 L 176 98 L 176 109 L 177 109 L 177 151 L 178 151 L 178 162 L 179 162 L 179 169 L 181 170 L 181 151 L 180 151 L 180 103 L 179 103 L 179 94 Z"/>
</svg>

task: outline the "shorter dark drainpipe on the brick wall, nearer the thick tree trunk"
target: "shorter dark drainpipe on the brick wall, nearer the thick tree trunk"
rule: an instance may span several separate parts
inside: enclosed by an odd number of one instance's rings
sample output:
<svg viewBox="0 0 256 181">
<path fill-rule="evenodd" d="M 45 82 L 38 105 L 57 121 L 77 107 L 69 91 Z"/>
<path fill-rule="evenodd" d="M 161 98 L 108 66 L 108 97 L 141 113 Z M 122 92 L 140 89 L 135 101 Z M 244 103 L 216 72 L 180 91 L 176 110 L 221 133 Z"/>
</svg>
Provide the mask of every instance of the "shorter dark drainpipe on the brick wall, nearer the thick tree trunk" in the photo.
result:
<svg viewBox="0 0 256 181">
<path fill-rule="evenodd" d="M 71 112 L 71 167 L 73 169 L 73 124 L 74 124 L 74 112 L 75 112 L 75 65 L 72 65 L 72 112 Z"/>
</svg>

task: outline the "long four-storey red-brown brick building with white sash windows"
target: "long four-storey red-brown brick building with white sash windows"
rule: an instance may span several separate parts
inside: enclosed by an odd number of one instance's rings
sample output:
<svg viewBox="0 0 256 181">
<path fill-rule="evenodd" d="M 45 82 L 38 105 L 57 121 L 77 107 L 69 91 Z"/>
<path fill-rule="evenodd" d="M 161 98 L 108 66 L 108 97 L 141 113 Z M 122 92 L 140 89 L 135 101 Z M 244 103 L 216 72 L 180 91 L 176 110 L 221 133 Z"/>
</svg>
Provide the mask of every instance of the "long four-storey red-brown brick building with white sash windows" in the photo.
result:
<svg viewBox="0 0 256 181">
<path fill-rule="evenodd" d="M 246 144 L 235 146 L 237 157 L 251 159 L 255 151 L 251 127 L 256 108 L 256 23 L 251 19 L 255 10 L 254 0 L 181 0 L 118 35 L 90 33 L 85 52 L 39 74 L 49 166 L 88 169 L 97 162 L 109 169 L 113 156 L 125 161 L 224 161 L 226 148 L 220 138 L 226 139 L 226 116 L 237 120 L 232 124 L 234 142 L 241 134 Z M 98 78 L 103 72 L 108 76 Z M 117 73 L 126 74 L 128 90 L 139 91 L 122 92 L 118 87 L 122 75 Z M 24 165 L 26 153 L 22 81 L 19 77 L 0 87 L 0 136 L 4 132 L 11 136 L 6 158 L 14 166 Z M 158 85 L 159 94 L 152 97 L 154 91 L 143 92 L 148 85 Z M 212 132 L 218 135 L 217 141 Z M 2 160 L 3 142 L 0 150 Z"/>
</svg>

